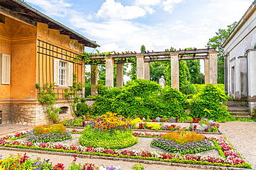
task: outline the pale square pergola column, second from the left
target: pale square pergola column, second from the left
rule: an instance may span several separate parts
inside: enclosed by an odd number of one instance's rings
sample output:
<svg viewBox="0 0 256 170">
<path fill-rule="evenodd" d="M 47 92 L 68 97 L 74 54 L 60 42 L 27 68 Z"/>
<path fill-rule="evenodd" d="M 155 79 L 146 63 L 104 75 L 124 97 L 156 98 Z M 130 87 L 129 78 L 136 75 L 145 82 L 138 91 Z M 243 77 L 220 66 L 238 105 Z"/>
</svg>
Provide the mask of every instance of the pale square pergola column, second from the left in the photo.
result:
<svg viewBox="0 0 256 170">
<path fill-rule="evenodd" d="M 107 87 L 113 87 L 113 58 L 106 59 L 106 83 Z"/>
</svg>

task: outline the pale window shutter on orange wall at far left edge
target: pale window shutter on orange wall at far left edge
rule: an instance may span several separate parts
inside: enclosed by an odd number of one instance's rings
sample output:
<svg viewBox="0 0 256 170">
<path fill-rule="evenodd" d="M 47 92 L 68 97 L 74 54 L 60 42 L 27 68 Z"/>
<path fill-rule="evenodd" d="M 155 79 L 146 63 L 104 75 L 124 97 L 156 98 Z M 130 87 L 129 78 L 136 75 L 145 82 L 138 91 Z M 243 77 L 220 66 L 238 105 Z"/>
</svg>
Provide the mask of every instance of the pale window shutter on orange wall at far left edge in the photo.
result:
<svg viewBox="0 0 256 170">
<path fill-rule="evenodd" d="M 10 85 L 10 55 L 2 54 L 2 84 Z"/>
</svg>

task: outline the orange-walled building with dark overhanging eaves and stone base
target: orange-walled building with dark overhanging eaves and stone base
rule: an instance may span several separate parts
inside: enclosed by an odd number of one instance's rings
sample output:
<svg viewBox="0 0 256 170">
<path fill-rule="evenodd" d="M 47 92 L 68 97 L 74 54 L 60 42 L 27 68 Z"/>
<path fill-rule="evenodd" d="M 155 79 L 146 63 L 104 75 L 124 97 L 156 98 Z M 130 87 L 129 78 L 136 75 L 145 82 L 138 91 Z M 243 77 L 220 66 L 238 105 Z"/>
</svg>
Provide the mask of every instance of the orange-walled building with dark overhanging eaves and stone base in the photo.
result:
<svg viewBox="0 0 256 170">
<path fill-rule="evenodd" d="M 71 116 L 64 89 L 84 81 L 83 61 L 73 62 L 94 41 L 74 32 L 19 0 L 0 1 L 0 124 L 44 125 L 49 123 L 37 100 L 36 83 L 55 82 L 62 109 Z"/>
</svg>

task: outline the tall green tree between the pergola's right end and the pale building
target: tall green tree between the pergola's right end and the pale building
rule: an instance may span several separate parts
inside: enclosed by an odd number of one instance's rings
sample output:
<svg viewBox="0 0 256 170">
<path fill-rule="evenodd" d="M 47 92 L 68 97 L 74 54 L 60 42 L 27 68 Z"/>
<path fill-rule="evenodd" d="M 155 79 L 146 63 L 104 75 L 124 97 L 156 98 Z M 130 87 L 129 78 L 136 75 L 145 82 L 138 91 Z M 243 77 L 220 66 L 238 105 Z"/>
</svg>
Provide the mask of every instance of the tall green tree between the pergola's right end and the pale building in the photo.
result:
<svg viewBox="0 0 256 170">
<path fill-rule="evenodd" d="M 207 43 L 207 47 L 214 47 L 218 52 L 218 83 L 224 83 L 224 50 L 221 45 L 228 38 L 235 25 L 237 25 L 237 22 L 228 25 L 226 30 L 219 29 L 219 32 L 216 32 L 216 36 L 210 38 Z"/>
</svg>

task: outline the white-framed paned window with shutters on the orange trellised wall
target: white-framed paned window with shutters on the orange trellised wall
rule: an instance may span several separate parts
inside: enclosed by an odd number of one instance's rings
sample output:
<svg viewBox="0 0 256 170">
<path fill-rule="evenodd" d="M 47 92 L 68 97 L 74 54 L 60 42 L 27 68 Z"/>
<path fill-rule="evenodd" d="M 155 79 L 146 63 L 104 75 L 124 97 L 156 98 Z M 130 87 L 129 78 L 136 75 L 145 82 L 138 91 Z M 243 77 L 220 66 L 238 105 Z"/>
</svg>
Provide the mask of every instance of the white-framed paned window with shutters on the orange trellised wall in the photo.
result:
<svg viewBox="0 0 256 170">
<path fill-rule="evenodd" d="M 54 60 L 54 82 L 55 85 L 72 86 L 73 85 L 73 63 Z"/>
</svg>

